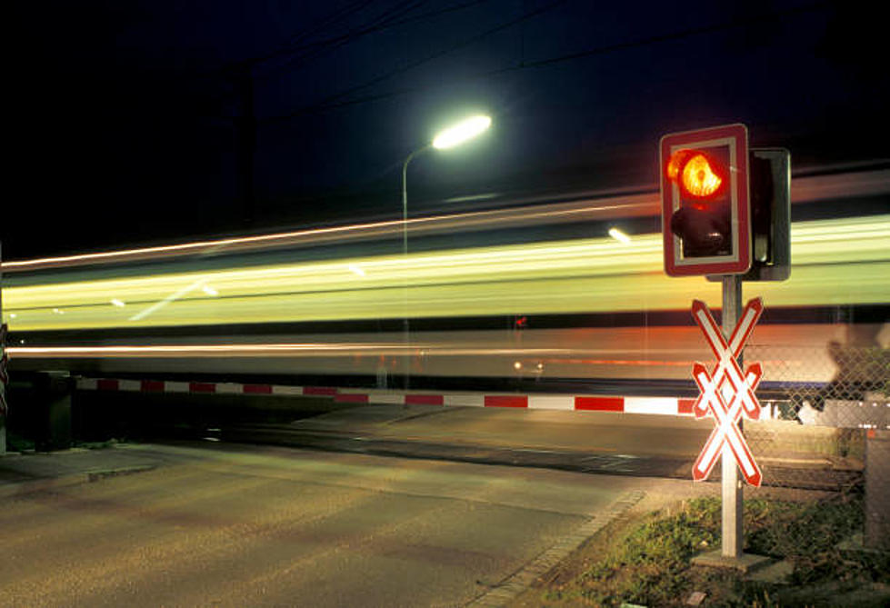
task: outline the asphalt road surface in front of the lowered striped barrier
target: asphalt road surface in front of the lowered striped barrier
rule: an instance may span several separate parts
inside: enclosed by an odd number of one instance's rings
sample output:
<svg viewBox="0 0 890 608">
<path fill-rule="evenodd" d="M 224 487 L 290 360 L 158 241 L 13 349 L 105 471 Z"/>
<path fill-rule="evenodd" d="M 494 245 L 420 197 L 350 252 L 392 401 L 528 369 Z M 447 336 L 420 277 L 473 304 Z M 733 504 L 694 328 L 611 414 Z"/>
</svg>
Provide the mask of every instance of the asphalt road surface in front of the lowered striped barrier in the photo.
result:
<svg viewBox="0 0 890 608">
<path fill-rule="evenodd" d="M 163 464 L 0 499 L 0 605 L 466 605 L 628 492 L 681 483 L 274 447 L 145 449 Z"/>
</svg>

